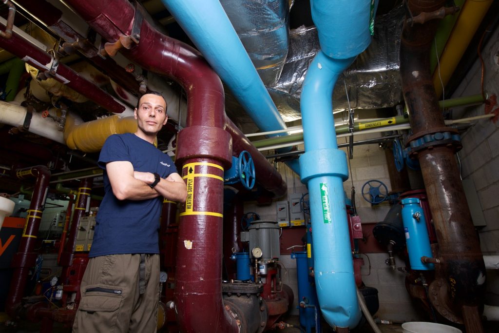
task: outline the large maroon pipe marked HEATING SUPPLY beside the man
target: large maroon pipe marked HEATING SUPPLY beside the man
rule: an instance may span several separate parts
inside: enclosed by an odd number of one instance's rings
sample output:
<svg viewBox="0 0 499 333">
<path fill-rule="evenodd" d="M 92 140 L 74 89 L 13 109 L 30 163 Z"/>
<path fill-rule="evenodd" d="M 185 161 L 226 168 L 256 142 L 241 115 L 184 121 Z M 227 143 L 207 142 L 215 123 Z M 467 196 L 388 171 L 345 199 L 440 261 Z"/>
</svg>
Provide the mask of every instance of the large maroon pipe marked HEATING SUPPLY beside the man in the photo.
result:
<svg viewBox="0 0 499 333">
<path fill-rule="evenodd" d="M 130 34 L 135 9 L 128 1 L 67 2 L 108 41 Z M 222 82 L 196 50 L 161 34 L 146 20 L 139 44 L 123 53 L 143 68 L 175 79 L 187 92 L 188 127 L 179 133 L 176 158 L 184 166 L 191 196 L 190 204 L 181 209 L 179 227 L 175 285 L 179 326 L 183 332 L 239 332 L 222 301 L 222 179 L 232 159 L 231 137 L 224 131 Z M 189 170 L 194 172 L 192 184 Z"/>
</svg>

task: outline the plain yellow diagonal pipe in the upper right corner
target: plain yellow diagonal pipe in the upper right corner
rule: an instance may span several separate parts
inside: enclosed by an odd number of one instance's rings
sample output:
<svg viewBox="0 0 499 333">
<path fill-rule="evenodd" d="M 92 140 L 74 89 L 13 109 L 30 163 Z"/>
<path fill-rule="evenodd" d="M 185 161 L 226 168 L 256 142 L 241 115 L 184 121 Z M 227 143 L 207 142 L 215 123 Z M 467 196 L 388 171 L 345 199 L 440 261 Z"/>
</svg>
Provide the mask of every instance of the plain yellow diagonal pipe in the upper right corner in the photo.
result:
<svg viewBox="0 0 499 333">
<path fill-rule="evenodd" d="M 445 45 L 442 57 L 439 60 L 440 77 L 442 78 L 442 82 L 440 82 L 438 67 L 433 74 L 433 84 L 438 98 L 442 96 L 442 83 L 445 87 L 451 79 L 452 73 L 456 69 L 456 66 L 466 51 L 466 48 L 470 44 L 473 35 L 477 31 L 482 19 L 487 13 L 487 10 L 491 6 L 492 1 L 493 0 L 468 0 L 465 2 L 456 25 L 452 30 L 451 36 Z"/>
</svg>

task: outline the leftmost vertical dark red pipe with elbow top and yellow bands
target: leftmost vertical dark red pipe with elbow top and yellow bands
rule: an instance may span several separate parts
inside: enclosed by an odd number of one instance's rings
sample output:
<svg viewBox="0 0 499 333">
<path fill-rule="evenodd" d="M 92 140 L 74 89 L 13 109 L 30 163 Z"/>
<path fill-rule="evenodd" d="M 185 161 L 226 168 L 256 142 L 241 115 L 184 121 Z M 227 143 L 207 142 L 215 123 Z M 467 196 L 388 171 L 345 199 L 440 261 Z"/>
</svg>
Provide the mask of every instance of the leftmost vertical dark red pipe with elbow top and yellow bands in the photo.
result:
<svg viewBox="0 0 499 333">
<path fill-rule="evenodd" d="M 0 38 L 2 39 L 2 38 Z M 38 165 L 26 169 L 18 169 L 15 175 L 19 179 L 36 177 L 33 196 L 27 211 L 26 224 L 22 231 L 21 242 L 17 253 L 12 258 L 11 267 L 15 268 L 12 281 L 5 302 L 5 312 L 16 318 L 20 310 L 21 299 L 24 296 L 24 287 L 29 269 L 35 265 L 37 253 L 33 252 L 38 229 L 40 227 L 41 215 L 50 181 L 50 171 L 44 165 Z"/>
</svg>

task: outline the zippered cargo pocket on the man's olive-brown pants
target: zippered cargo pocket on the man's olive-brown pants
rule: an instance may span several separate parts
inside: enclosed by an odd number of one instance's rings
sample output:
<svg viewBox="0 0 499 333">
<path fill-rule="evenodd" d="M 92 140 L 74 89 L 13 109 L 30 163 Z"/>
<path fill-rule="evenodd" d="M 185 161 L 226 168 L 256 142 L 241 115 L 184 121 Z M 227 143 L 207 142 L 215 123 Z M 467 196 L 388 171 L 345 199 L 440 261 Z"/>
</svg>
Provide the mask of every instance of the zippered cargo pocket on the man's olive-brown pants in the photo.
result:
<svg viewBox="0 0 499 333">
<path fill-rule="evenodd" d="M 121 288 L 89 285 L 85 288 L 78 312 L 85 317 L 87 324 L 94 329 L 98 328 L 98 332 L 114 332 L 123 300 L 122 294 Z M 93 332 L 93 330 L 81 332 Z"/>
</svg>

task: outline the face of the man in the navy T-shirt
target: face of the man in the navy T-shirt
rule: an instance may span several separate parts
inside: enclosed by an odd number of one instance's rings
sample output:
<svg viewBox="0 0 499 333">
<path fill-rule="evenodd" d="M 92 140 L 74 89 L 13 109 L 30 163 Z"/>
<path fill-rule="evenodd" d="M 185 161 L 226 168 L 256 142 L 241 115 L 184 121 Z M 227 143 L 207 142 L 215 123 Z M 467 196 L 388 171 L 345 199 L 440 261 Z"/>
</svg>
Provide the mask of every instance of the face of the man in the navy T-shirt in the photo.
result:
<svg viewBox="0 0 499 333">
<path fill-rule="evenodd" d="M 154 94 L 143 95 L 134 115 L 140 131 L 147 135 L 156 135 L 168 120 L 165 99 Z"/>
</svg>

